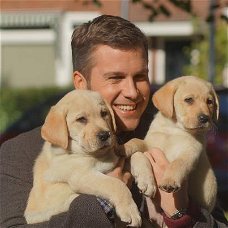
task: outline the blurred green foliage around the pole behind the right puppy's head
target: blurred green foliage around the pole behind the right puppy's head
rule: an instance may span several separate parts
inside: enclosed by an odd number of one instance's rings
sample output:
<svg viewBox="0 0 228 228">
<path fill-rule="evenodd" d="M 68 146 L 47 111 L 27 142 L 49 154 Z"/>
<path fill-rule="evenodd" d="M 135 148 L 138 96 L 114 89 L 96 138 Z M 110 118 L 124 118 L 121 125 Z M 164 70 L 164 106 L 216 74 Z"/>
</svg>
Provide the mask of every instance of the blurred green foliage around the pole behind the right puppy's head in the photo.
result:
<svg viewBox="0 0 228 228">
<path fill-rule="evenodd" d="M 223 71 L 227 66 L 227 23 L 218 22 L 215 33 L 215 78 L 214 83 L 219 85 L 223 81 Z M 209 61 L 209 32 L 204 37 L 197 37 L 190 48 L 185 50 L 191 63 L 184 67 L 184 74 L 197 75 L 208 79 Z"/>
</svg>

